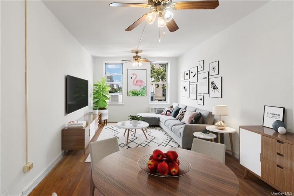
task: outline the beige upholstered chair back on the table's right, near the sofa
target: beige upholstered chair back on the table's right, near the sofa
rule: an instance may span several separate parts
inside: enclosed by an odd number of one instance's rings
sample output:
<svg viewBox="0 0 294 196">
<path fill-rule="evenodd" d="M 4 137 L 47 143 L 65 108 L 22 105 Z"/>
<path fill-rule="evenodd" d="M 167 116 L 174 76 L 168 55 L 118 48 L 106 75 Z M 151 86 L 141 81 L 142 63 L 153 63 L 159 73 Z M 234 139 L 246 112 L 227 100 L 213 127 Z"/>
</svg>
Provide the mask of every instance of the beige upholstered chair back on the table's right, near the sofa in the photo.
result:
<svg viewBox="0 0 294 196">
<path fill-rule="evenodd" d="M 191 151 L 199 152 L 225 164 L 225 144 L 194 138 Z"/>
</svg>

